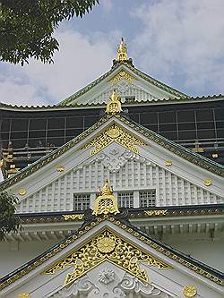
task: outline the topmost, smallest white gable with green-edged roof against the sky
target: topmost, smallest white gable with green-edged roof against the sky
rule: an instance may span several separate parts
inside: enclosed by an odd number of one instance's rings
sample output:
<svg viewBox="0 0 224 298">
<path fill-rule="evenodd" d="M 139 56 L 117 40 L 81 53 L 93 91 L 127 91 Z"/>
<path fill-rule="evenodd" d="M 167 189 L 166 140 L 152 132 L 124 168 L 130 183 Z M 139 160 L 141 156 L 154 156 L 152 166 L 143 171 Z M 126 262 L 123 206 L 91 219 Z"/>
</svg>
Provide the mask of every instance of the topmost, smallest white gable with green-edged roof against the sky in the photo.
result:
<svg viewBox="0 0 224 298">
<path fill-rule="evenodd" d="M 99 79 L 92 81 L 69 98 L 65 98 L 58 106 L 101 105 L 108 102 L 113 89 L 118 91 L 122 101 L 133 97 L 135 102 L 189 98 L 184 93 L 151 78 L 132 64 L 123 62 L 116 64 Z"/>
</svg>

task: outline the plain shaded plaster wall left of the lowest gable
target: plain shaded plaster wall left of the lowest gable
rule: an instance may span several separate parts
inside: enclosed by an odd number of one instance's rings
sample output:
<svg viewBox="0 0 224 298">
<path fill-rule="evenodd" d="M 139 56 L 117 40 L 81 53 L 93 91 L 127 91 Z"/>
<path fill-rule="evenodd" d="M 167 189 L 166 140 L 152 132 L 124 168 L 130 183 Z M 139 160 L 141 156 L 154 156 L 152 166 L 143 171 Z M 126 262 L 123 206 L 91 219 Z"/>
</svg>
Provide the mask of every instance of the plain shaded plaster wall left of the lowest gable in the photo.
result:
<svg viewBox="0 0 224 298">
<path fill-rule="evenodd" d="M 12 272 L 24 263 L 39 256 L 58 240 L 0 243 L 0 277 Z"/>
</svg>

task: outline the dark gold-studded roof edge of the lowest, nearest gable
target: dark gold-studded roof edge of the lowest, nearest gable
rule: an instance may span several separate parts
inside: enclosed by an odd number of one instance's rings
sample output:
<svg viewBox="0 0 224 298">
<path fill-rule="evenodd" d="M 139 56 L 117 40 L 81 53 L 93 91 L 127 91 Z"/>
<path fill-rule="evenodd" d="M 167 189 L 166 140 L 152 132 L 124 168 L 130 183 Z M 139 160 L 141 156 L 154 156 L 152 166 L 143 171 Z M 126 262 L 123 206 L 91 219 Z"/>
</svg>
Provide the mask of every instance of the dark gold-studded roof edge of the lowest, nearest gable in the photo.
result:
<svg viewBox="0 0 224 298">
<path fill-rule="evenodd" d="M 177 251 L 176 249 L 168 246 L 165 243 L 160 242 L 159 240 L 151 238 L 147 234 L 142 233 L 142 231 L 140 231 L 138 228 L 132 226 L 129 223 L 125 210 L 124 212 L 121 212 L 116 216 L 101 215 L 98 217 L 92 216 L 89 210 L 89 212 L 87 212 L 86 214 L 85 222 L 83 223 L 80 229 L 66 237 L 65 240 L 51 247 L 49 250 L 41 253 L 35 259 L 30 260 L 26 264 L 22 265 L 22 267 L 15 269 L 12 273 L 1 278 L 0 289 L 3 289 L 4 287 L 11 285 L 19 278 L 24 277 L 25 275 L 30 273 L 30 271 L 32 271 L 33 269 L 38 268 L 47 260 L 56 256 L 57 253 L 65 250 L 66 247 L 68 247 L 71 243 L 74 243 L 78 238 L 81 238 L 83 234 L 88 233 L 93 227 L 99 226 L 99 224 L 103 222 L 112 223 L 112 225 L 120 227 L 127 234 L 130 234 L 130 236 L 133 235 L 136 239 L 138 239 L 138 241 L 142 242 L 142 244 L 144 243 L 151 247 L 155 251 L 155 255 L 157 255 L 156 252 L 158 251 L 162 255 L 168 257 L 170 260 L 175 260 L 177 263 L 183 265 L 185 268 L 194 271 L 194 273 L 199 274 L 202 277 L 208 278 L 218 285 L 223 285 L 224 275 L 222 272 L 214 268 L 211 268 L 206 264 L 203 264 L 201 261 L 195 260 L 194 258 L 185 255 L 181 251 Z M 110 233 L 109 229 L 107 229 L 107 231 Z M 165 268 L 166 266 L 168 266 L 162 260 L 156 260 L 156 263 L 151 263 L 152 266 L 154 266 L 155 264 L 157 264 L 156 266 L 160 266 L 160 268 Z M 51 268 L 52 267 L 48 268 L 47 270 L 51 270 Z M 52 270 L 54 273 L 54 270 L 56 270 L 56 268 L 52 268 Z"/>
</svg>

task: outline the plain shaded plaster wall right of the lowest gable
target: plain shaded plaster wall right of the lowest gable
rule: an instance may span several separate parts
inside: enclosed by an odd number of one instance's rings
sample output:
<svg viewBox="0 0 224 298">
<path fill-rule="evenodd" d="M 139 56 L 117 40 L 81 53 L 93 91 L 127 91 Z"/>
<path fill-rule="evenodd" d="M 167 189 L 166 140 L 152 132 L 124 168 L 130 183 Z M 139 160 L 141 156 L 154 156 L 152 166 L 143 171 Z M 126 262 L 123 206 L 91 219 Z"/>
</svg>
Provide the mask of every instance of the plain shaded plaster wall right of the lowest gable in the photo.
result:
<svg viewBox="0 0 224 298">
<path fill-rule="evenodd" d="M 223 259 L 223 247 L 224 239 L 194 239 L 191 240 L 189 236 L 183 236 L 179 240 L 178 235 L 174 237 L 164 237 L 163 242 L 177 249 L 178 251 L 184 252 L 190 255 L 196 260 L 201 260 L 204 264 L 216 268 L 221 272 L 224 271 L 224 259 Z M 199 237 L 198 237 L 199 238 Z"/>
</svg>

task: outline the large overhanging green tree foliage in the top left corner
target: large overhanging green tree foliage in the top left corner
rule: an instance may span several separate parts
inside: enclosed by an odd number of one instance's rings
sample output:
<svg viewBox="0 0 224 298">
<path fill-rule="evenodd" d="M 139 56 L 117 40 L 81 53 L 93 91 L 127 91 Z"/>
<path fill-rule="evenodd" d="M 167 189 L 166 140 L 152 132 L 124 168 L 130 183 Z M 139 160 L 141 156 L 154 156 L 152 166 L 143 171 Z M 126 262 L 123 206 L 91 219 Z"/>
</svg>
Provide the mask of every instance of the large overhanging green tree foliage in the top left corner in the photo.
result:
<svg viewBox="0 0 224 298">
<path fill-rule="evenodd" d="M 0 0 L 0 61 L 52 63 L 59 23 L 89 13 L 99 0 Z"/>
</svg>

